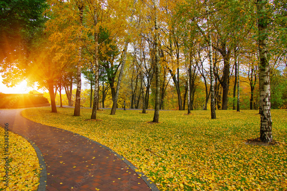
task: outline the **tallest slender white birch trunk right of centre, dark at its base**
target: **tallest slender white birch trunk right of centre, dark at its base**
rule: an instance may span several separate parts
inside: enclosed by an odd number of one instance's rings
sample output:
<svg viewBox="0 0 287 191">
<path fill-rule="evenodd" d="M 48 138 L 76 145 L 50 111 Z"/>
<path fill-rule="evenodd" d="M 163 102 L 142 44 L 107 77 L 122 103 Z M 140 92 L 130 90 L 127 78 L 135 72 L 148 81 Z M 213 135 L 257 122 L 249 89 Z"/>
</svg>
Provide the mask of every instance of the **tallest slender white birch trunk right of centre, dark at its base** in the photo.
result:
<svg viewBox="0 0 287 191">
<path fill-rule="evenodd" d="M 209 63 L 210 63 L 210 90 L 211 90 L 211 100 L 210 100 L 210 111 L 211 111 L 211 119 L 216 119 L 215 113 L 215 103 L 214 103 L 214 76 L 213 76 L 213 59 L 212 59 L 212 41 L 211 41 L 211 29 L 210 29 L 210 21 L 209 21 L 209 9 L 206 6 L 207 23 L 208 23 L 208 41 L 209 41 Z"/>
</svg>

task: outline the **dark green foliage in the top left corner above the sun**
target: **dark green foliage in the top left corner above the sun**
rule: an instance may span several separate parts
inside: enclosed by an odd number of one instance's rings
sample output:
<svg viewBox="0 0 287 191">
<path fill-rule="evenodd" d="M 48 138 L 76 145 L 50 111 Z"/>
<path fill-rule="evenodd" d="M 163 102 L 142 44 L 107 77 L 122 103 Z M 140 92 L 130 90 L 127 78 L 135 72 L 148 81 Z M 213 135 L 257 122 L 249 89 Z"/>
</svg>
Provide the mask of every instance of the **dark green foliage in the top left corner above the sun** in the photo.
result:
<svg viewBox="0 0 287 191">
<path fill-rule="evenodd" d="M 0 1 L 0 61 L 13 61 L 26 47 L 31 34 L 44 22 L 45 0 Z M 10 51 L 9 51 L 10 50 Z M 11 59 L 11 60 L 10 60 Z"/>
</svg>

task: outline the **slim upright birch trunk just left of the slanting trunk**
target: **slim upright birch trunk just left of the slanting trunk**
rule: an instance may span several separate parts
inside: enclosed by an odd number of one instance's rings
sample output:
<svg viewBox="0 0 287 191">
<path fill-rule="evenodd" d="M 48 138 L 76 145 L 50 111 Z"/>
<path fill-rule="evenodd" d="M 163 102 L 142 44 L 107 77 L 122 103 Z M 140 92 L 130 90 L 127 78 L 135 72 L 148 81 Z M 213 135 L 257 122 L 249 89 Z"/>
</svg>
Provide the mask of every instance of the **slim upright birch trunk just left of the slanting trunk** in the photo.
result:
<svg viewBox="0 0 287 191">
<path fill-rule="evenodd" d="M 98 24 L 98 12 L 99 7 L 94 7 L 94 26 Z M 98 45 L 98 32 L 95 32 L 95 89 L 94 89 L 94 103 L 92 109 L 91 119 L 96 119 L 97 117 L 97 108 L 98 108 L 98 92 L 99 92 L 99 45 Z"/>
</svg>

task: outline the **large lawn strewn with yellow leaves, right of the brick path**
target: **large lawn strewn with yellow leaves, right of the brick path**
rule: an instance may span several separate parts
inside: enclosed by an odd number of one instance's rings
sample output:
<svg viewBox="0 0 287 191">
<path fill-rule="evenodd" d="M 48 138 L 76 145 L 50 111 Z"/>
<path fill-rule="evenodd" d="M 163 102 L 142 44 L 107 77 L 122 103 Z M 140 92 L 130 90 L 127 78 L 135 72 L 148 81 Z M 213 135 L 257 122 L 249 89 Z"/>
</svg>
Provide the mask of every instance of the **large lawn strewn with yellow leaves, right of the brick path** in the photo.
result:
<svg viewBox="0 0 287 191">
<path fill-rule="evenodd" d="M 259 137 L 258 111 L 154 111 L 33 108 L 24 117 L 69 130 L 100 142 L 143 171 L 160 190 L 286 190 L 287 111 L 272 110 L 273 138 L 281 144 L 253 146 L 244 140 Z"/>
</svg>

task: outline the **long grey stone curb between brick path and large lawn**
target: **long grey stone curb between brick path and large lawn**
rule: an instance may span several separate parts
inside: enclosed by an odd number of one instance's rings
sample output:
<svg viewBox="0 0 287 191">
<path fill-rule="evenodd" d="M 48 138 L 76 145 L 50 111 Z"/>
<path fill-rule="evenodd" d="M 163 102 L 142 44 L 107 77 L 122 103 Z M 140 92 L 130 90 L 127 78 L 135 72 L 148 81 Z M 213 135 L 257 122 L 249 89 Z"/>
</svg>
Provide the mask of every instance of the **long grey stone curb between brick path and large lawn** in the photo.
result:
<svg viewBox="0 0 287 191">
<path fill-rule="evenodd" d="M 24 116 L 22 115 L 22 112 L 21 112 L 21 116 L 24 117 Z M 25 117 L 25 118 L 26 118 L 26 117 Z M 28 118 L 26 118 L 26 119 L 27 119 L 27 120 L 30 120 L 30 119 L 28 119 Z M 32 121 L 32 120 L 30 120 L 30 121 Z M 35 121 L 33 121 L 33 122 L 34 122 L 34 123 L 37 123 L 37 122 L 35 122 Z M 40 123 L 38 123 L 38 124 L 40 124 Z M 41 125 L 43 125 L 43 124 L 41 124 Z M 51 126 L 51 127 L 52 127 L 52 126 Z M 61 129 L 61 128 L 58 128 L 58 127 L 54 127 L 54 128 Z M 89 140 L 89 141 L 92 141 L 92 142 L 98 144 L 99 146 L 102 146 L 102 147 L 105 148 L 106 150 L 108 150 L 108 151 L 110 151 L 111 153 L 113 153 L 115 156 L 119 157 L 119 159 L 121 159 L 121 160 L 122 160 L 124 163 L 126 163 L 129 167 L 131 167 L 131 168 L 133 169 L 133 171 L 134 171 L 135 173 L 137 173 L 137 174 L 141 177 L 142 180 L 144 180 L 144 182 L 147 184 L 148 187 L 150 187 L 150 189 L 151 189 L 152 191 L 160 191 L 160 190 L 158 189 L 158 187 L 156 187 L 156 185 L 155 185 L 151 180 L 148 180 L 148 177 L 147 177 L 143 172 L 140 172 L 140 171 L 136 172 L 135 170 L 138 170 L 137 167 L 135 167 L 135 166 L 134 166 L 130 161 L 128 161 L 125 157 L 123 157 L 122 155 L 119 155 L 118 153 L 116 153 L 115 151 L 113 151 L 111 148 L 109 148 L 109 147 L 107 147 L 107 146 L 105 146 L 105 145 L 103 145 L 103 144 L 101 144 L 101 143 L 99 143 L 99 142 L 96 142 L 96 141 L 94 141 L 94 140 L 92 140 L 92 139 L 90 139 L 90 138 L 88 138 L 88 137 L 85 137 L 85 136 L 82 136 L 82 135 L 80 135 L 80 134 L 74 133 L 74 132 L 72 132 L 72 131 L 65 130 L 65 129 L 61 129 L 61 130 L 64 130 L 64 131 L 73 133 L 73 134 L 75 134 L 75 135 L 77 135 L 77 136 L 80 136 L 80 137 L 85 138 L 85 139 L 87 139 L 87 140 Z M 42 153 L 41 153 L 41 154 L 42 154 Z M 39 160 L 39 162 L 40 162 L 40 160 Z M 46 171 L 46 165 L 44 165 L 44 166 L 45 166 L 45 171 Z M 46 181 L 47 181 L 47 175 L 46 175 Z M 151 183 L 150 183 L 150 182 L 151 182 Z M 45 182 L 45 185 L 46 185 L 46 182 Z M 40 186 L 40 185 L 39 185 L 39 186 Z M 37 191 L 44 191 L 44 190 L 37 190 Z"/>
</svg>

